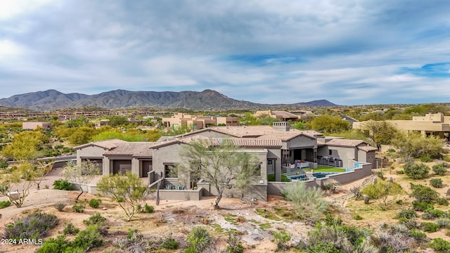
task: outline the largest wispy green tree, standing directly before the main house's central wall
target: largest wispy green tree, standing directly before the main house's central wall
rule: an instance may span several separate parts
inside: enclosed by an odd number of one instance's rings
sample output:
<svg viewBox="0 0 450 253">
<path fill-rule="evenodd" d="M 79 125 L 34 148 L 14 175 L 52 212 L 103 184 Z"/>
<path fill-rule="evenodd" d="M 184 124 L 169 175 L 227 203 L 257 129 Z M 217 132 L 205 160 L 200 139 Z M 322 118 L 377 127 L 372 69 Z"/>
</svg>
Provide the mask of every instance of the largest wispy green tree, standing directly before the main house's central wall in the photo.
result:
<svg viewBox="0 0 450 253">
<path fill-rule="evenodd" d="M 179 155 L 184 160 L 177 168 L 179 178 L 209 181 L 217 190 L 216 209 L 225 189 L 234 187 L 245 192 L 260 173 L 257 157 L 240 152 L 231 138 L 217 143 L 210 139 L 193 141 L 184 145 Z"/>
</svg>

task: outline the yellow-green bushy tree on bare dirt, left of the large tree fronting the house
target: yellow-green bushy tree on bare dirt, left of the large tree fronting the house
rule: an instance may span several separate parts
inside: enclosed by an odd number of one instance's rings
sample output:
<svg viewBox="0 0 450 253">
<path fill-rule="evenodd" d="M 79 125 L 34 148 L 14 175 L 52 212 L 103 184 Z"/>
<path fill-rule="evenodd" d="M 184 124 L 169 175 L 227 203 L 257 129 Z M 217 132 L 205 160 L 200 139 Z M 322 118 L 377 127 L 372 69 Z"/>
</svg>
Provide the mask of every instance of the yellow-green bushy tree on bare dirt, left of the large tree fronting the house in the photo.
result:
<svg viewBox="0 0 450 253">
<path fill-rule="evenodd" d="M 127 171 L 126 174 L 110 174 L 103 176 L 97 183 L 98 190 L 103 195 L 119 203 L 131 221 L 134 214 L 139 212 L 139 206 L 148 195 L 148 188 L 138 175 Z"/>
</svg>

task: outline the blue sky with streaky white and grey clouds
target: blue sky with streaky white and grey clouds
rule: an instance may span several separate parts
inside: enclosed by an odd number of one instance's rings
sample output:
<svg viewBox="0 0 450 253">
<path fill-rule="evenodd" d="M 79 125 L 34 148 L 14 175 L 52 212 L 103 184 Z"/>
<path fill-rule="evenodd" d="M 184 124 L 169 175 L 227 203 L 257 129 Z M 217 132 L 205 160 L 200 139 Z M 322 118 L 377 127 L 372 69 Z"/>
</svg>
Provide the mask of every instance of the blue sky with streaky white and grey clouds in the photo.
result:
<svg viewBox="0 0 450 253">
<path fill-rule="evenodd" d="M 450 103 L 448 1 L 0 0 L 0 98 Z"/>
</svg>

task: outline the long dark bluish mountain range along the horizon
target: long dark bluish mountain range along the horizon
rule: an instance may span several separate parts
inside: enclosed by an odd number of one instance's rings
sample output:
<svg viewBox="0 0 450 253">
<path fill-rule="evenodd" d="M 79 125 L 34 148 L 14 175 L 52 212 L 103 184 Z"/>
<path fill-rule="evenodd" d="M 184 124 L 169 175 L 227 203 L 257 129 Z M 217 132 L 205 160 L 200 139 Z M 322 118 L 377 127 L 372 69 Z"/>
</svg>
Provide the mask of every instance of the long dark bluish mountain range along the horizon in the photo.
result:
<svg viewBox="0 0 450 253">
<path fill-rule="evenodd" d="M 37 91 L 1 98 L 0 105 L 51 111 L 62 108 L 186 108 L 191 110 L 275 109 L 300 106 L 336 106 L 328 100 L 314 100 L 293 104 L 260 104 L 235 100 L 217 91 L 126 91 L 118 89 L 94 95 L 61 93 L 56 90 Z"/>
</svg>

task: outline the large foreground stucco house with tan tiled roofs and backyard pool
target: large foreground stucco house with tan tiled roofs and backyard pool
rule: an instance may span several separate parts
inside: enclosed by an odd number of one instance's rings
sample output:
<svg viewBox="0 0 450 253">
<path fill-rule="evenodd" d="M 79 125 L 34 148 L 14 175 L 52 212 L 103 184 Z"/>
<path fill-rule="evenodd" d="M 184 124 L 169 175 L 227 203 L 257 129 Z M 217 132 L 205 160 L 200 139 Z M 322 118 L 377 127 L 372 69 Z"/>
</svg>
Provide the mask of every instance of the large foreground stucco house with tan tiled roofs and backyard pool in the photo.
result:
<svg viewBox="0 0 450 253">
<path fill-rule="evenodd" d="M 260 163 L 259 179 L 253 191 L 266 200 L 267 175 L 274 174 L 281 182 L 283 166 L 295 161 L 309 161 L 311 168 L 317 167 L 318 157 L 333 156 L 343 161 L 342 167 L 353 167 L 351 160 L 373 162 L 375 150 L 364 141 L 330 139 L 316 131 L 290 129 L 289 122 L 274 122 L 274 126 L 212 126 L 180 136 L 162 137 L 153 143 L 129 143 L 120 140 L 97 141 L 75 147 L 77 162 L 92 160 L 102 168 L 102 174 L 117 174 L 132 171 L 141 178 L 148 178 L 152 185 L 159 179 L 179 185 L 178 179 L 170 179 L 171 169 L 183 159 L 179 156 L 183 145 L 198 139 L 220 145 L 224 138 L 231 139 L 241 151 L 254 154 Z M 370 168 L 368 172 L 371 173 Z M 353 176 L 354 177 L 354 176 Z M 352 179 L 353 179 L 352 177 Z M 188 186 L 189 188 L 189 186 Z M 208 190 L 209 192 L 211 190 Z M 228 193 L 236 196 L 236 193 Z"/>
</svg>

